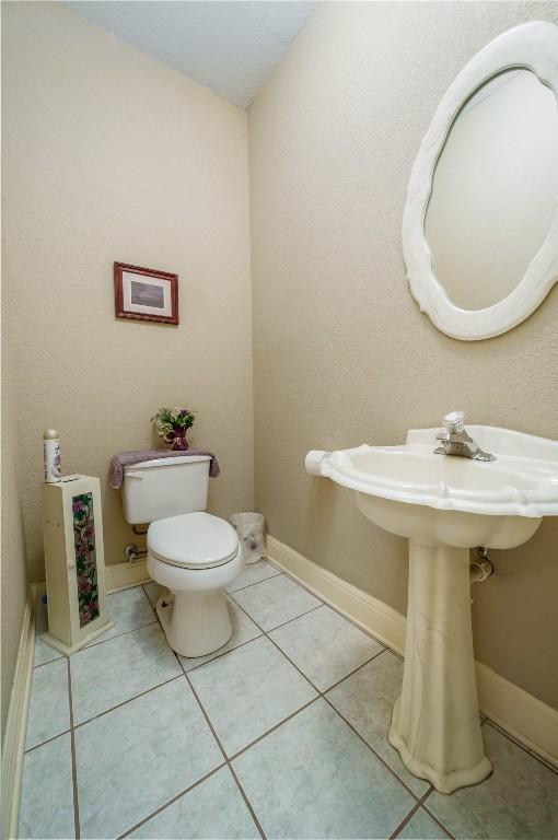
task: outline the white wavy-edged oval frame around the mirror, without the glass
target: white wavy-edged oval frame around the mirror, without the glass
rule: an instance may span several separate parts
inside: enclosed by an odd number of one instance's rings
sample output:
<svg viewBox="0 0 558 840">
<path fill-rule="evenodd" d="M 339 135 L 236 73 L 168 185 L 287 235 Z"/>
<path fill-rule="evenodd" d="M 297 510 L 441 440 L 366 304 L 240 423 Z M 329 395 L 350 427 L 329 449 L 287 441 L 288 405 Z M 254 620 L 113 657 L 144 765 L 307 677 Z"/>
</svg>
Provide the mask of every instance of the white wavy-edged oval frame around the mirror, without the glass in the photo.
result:
<svg viewBox="0 0 558 840">
<path fill-rule="evenodd" d="M 403 217 L 403 252 L 415 300 L 442 332 L 464 341 L 491 338 L 515 327 L 544 301 L 558 280 L 558 196 L 547 236 L 525 276 L 503 300 L 484 310 L 462 310 L 449 299 L 432 268 L 425 219 L 435 164 L 455 117 L 475 91 L 504 70 L 531 70 L 558 100 L 558 27 L 534 22 L 490 42 L 463 68 L 442 97 L 412 166 Z"/>
</svg>

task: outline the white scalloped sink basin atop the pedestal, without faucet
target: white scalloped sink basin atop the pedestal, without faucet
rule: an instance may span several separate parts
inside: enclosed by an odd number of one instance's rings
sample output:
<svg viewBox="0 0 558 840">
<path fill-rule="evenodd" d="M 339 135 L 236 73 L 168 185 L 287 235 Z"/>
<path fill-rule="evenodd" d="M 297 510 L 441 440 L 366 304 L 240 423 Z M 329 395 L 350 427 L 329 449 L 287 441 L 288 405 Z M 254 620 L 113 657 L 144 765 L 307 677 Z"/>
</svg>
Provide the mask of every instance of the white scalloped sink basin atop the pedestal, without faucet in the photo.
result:
<svg viewBox="0 0 558 840">
<path fill-rule="evenodd" d="M 359 509 L 380 527 L 430 546 L 513 548 L 543 516 L 558 514 L 557 442 L 469 425 L 497 454 L 487 463 L 434 455 L 438 431 L 410 430 L 402 446 L 311 452 L 306 469 L 356 490 Z"/>
</svg>

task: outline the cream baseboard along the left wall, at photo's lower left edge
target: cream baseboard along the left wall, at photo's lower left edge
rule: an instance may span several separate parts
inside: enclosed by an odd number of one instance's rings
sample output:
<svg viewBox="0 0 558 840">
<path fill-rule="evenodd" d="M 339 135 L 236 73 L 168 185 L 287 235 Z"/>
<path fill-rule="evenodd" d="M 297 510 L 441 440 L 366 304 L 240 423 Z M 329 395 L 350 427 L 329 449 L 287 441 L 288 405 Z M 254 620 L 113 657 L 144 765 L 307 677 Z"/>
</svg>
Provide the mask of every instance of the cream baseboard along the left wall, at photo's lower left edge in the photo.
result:
<svg viewBox="0 0 558 840">
<path fill-rule="evenodd" d="M 23 612 L 10 707 L 2 745 L 2 836 L 18 837 L 23 750 L 35 648 L 35 597 L 31 586 Z"/>
</svg>

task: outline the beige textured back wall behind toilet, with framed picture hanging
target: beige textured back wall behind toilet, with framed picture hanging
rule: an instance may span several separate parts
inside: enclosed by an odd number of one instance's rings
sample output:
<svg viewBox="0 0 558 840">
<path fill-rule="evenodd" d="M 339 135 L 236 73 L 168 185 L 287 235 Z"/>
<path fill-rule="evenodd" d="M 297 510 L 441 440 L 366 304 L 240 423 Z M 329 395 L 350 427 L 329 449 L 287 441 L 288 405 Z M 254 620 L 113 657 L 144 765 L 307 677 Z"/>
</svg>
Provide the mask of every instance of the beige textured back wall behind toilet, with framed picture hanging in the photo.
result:
<svg viewBox="0 0 558 840">
<path fill-rule="evenodd" d="M 3 10 L 5 325 L 21 502 L 40 580 L 43 429 L 102 479 L 105 557 L 138 541 L 111 456 L 152 443 L 162 405 L 197 410 L 219 455 L 210 510 L 253 506 L 246 113 L 57 3 Z M 181 325 L 118 320 L 113 261 L 179 275 Z"/>
</svg>

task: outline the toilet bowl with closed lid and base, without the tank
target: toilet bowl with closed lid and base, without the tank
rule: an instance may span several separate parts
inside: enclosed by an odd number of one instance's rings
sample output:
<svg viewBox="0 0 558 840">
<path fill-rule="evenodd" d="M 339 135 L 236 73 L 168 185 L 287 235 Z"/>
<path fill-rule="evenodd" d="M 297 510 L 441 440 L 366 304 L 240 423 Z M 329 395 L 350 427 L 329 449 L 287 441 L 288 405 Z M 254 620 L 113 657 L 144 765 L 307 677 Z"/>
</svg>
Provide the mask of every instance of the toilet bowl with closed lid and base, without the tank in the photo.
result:
<svg viewBox="0 0 558 840">
<path fill-rule="evenodd" d="M 218 516 L 195 512 L 151 523 L 148 573 L 168 590 L 156 612 L 176 653 L 204 656 L 226 644 L 232 625 L 224 587 L 243 567 L 236 532 Z"/>
</svg>

